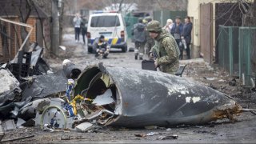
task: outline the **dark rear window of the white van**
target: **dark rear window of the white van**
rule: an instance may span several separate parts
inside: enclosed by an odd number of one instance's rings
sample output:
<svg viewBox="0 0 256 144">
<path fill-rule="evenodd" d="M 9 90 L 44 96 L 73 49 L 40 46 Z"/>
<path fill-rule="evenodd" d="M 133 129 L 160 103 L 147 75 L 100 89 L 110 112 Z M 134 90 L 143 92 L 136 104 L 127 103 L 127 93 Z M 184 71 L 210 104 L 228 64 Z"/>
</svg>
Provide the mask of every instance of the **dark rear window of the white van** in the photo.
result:
<svg viewBox="0 0 256 144">
<path fill-rule="evenodd" d="M 114 27 L 120 26 L 117 15 L 95 16 L 91 18 L 91 27 Z"/>
</svg>

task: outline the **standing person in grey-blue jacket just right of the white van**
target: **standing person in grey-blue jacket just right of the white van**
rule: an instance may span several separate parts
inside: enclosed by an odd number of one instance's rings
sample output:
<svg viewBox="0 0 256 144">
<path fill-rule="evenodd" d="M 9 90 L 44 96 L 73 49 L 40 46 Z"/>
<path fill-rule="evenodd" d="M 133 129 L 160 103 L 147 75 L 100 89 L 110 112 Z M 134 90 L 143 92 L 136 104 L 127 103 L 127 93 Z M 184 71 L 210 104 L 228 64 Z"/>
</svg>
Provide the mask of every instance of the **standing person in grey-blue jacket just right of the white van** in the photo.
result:
<svg viewBox="0 0 256 144">
<path fill-rule="evenodd" d="M 142 60 L 144 55 L 144 47 L 146 44 L 146 30 L 142 18 L 138 18 L 138 23 L 134 24 L 132 35 L 134 36 L 135 42 L 135 59 L 138 59 L 139 55 L 139 59 Z"/>
</svg>

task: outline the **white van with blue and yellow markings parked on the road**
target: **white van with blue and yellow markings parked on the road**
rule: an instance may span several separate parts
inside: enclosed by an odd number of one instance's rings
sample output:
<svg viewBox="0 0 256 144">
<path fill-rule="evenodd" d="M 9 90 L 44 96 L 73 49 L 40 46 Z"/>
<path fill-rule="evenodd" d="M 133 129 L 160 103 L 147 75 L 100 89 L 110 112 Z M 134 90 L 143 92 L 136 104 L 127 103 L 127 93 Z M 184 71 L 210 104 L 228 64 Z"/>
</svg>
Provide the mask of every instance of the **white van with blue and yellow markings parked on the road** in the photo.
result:
<svg viewBox="0 0 256 144">
<path fill-rule="evenodd" d="M 87 27 L 88 52 L 92 53 L 95 38 L 104 35 L 110 48 L 122 49 L 127 51 L 127 32 L 126 24 L 122 14 L 118 12 L 96 12 L 90 14 Z"/>
</svg>

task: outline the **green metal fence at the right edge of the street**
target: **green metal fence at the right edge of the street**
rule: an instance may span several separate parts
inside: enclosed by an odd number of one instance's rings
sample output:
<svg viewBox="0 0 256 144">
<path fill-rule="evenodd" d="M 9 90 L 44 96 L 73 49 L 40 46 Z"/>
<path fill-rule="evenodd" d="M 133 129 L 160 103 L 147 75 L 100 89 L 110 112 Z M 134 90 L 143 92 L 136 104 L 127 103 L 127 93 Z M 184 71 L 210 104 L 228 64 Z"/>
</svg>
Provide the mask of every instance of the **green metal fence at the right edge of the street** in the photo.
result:
<svg viewBox="0 0 256 144">
<path fill-rule="evenodd" d="M 256 27 L 219 26 L 218 64 L 230 75 L 245 78 L 246 86 L 253 77 L 251 52 L 254 48 Z M 244 76 L 244 77 L 243 77 Z"/>
</svg>

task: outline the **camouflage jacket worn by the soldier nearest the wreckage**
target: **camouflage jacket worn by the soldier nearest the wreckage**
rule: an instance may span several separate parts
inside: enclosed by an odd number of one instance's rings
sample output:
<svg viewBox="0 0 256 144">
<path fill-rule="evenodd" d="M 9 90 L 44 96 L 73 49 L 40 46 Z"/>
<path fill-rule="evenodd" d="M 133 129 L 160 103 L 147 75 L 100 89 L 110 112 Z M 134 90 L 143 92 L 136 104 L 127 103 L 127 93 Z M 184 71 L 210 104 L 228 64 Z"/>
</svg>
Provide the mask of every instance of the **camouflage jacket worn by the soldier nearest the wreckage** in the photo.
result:
<svg viewBox="0 0 256 144">
<path fill-rule="evenodd" d="M 160 70 L 165 73 L 175 74 L 179 67 L 179 49 L 174 37 L 166 30 L 162 30 L 154 40 L 155 45 L 151 51 L 154 50 L 155 54 L 157 54 L 156 61 Z"/>
</svg>

